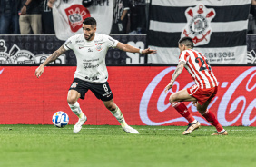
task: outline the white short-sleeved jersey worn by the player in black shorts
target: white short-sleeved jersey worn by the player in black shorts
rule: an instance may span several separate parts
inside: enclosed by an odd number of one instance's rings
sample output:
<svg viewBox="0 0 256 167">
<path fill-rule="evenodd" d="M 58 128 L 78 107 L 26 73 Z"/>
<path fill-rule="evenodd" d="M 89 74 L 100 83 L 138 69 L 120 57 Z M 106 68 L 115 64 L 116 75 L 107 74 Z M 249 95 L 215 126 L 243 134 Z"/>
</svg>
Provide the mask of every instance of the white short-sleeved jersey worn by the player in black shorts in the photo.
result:
<svg viewBox="0 0 256 167">
<path fill-rule="evenodd" d="M 76 34 L 64 43 L 64 49 L 74 51 L 77 68 L 74 78 L 104 83 L 108 79 L 105 56 L 109 47 L 116 47 L 118 41 L 106 34 L 97 34 L 93 41 L 87 41 L 84 34 Z"/>
</svg>

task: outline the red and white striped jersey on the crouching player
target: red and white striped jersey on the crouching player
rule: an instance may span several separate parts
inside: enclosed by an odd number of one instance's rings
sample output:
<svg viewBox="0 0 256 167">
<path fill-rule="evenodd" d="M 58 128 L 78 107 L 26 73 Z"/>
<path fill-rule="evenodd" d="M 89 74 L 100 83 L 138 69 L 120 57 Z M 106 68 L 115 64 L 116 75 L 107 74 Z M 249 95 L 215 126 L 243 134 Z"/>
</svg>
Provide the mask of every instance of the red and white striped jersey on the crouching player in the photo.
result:
<svg viewBox="0 0 256 167">
<path fill-rule="evenodd" d="M 218 85 L 212 68 L 202 53 L 193 49 L 185 50 L 179 57 L 179 63 L 182 61 L 186 62 L 185 68 L 198 87 L 207 89 Z"/>
</svg>

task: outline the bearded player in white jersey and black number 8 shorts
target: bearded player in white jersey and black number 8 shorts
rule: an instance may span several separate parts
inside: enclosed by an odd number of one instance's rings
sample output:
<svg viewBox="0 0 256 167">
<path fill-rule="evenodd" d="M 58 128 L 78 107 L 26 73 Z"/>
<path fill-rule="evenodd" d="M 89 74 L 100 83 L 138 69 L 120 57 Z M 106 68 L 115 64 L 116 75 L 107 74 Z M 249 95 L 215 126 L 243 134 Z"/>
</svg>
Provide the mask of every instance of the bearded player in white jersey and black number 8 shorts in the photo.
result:
<svg viewBox="0 0 256 167">
<path fill-rule="evenodd" d="M 105 64 L 105 55 L 109 47 L 116 47 L 125 52 L 155 54 L 155 50 L 138 49 L 129 44 L 123 44 L 105 34 L 97 34 L 96 20 L 93 17 L 84 19 L 84 34 L 76 34 L 70 37 L 58 50 L 51 54 L 43 64 L 36 70 L 35 75 L 39 78 L 44 72 L 44 66 L 53 62 L 65 51 L 72 49 L 77 59 L 77 68 L 74 74 L 74 81 L 70 86 L 67 95 L 67 103 L 70 109 L 79 117 L 74 125 L 74 133 L 82 129 L 87 117 L 82 112 L 77 100 L 84 99 L 85 93 L 91 90 L 95 96 L 102 100 L 105 107 L 110 110 L 113 116 L 121 123 L 126 133 L 139 133 L 133 129 L 123 118 L 118 106 L 113 102 L 113 93 L 107 82 L 108 72 Z"/>
</svg>

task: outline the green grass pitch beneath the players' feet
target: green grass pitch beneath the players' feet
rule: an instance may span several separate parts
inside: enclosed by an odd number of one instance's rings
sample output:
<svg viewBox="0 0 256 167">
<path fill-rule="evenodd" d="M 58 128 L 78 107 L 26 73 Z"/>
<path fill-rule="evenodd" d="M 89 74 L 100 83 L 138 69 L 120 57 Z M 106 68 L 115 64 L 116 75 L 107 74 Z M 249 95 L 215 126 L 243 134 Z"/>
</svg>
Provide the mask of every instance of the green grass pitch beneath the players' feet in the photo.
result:
<svg viewBox="0 0 256 167">
<path fill-rule="evenodd" d="M 182 126 L 73 127 L 0 125 L 0 166 L 256 166 L 256 127 L 225 127 L 228 136 L 207 126 L 186 136 Z"/>
</svg>

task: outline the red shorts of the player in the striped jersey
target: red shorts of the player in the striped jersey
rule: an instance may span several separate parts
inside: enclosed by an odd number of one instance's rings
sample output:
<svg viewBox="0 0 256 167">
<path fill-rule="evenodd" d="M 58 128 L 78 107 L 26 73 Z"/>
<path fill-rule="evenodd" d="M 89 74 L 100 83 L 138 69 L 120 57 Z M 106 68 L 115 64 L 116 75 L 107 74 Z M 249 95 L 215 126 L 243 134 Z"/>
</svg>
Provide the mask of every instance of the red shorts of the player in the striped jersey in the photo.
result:
<svg viewBox="0 0 256 167">
<path fill-rule="evenodd" d="M 201 89 L 194 84 L 192 87 L 187 88 L 187 91 L 192 97 L 196 98 L 198 103 L 202 105 L 206 101 L 212 101 L 212 98 L 215 97 L 218 92 L 218 86 L 208 89 Z"/>
</svg>

